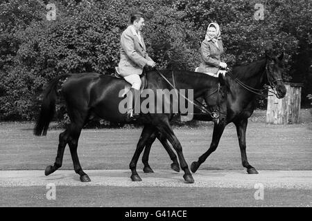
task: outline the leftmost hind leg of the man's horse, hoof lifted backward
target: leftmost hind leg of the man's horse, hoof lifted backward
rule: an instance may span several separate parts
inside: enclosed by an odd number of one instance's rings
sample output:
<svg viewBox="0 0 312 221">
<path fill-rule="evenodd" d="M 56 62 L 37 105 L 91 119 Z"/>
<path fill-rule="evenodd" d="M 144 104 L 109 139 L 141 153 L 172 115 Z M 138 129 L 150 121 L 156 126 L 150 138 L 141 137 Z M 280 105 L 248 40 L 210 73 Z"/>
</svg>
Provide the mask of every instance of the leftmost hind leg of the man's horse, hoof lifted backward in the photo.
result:
<svg viewBox="0 0 312 221">
<path fill-rule="evenodd" d="M 53 166 L 46 166 L 44 171 L 45 175 L 50 175 L 62 166 L 64 149 L 67 144 L 68 133 L 67 130 L 60 133 L 59 144 L 58 144 L 58 154 L 55 157 L 55 163 Z"/>
</svg>

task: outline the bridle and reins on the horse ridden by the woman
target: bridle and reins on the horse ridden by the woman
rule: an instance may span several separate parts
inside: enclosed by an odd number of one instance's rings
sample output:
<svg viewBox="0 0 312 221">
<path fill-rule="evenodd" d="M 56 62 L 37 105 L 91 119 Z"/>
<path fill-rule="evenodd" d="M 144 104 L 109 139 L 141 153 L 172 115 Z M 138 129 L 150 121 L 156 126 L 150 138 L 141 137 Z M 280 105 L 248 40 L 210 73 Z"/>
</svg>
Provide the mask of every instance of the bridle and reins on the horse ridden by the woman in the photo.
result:
<svg viewBox="0 0 312 221">
<path fill-rule="evenodd" d="M 274 64 L 274 63 L 270 63 L 270 64 Z M 268 84 L 270 84 L 270 88 L 272 88 L 272 90 L 275 90 L 277 87 L 277 84 L 275 84 L 275 82 L 277 81 L 282 81 L 283 79 L 279 78 L 279 79 L 275 79 L 275 80 L 271 80 L 270 75 L 269 75 L 269 70 L 268 70 L 268 65 L 270 64 L 266 64 L 266 77 L 268 79 Z M 269 90 L 269 87 L 264 85 L 263 88 L 261 89 L 257 89 L 257 88 L 252 88 L 251 86 L 248 86 L 247 84 L 243 83 L 241 80 L 239 80 L 237 77 L 234 77 L 232 70 L 230 70 L 229 68 L 225 68 L 225 70 L 227 70 L 227 74 L 232 77 L 232 79 L 234 79 L 234 81 L 237 82 L 237 84 L 239 84 L 240 86 L 242 86 L 243 88 L 245 88 L 246 90 L 249 90 L 250 92 L 256 94 L 256 95 L 260 95 L 260 96 L 266 96 L 263 95 L 263 92 L 268 90 L 270 93 L 274 94 L 275 96 L 278 96 L 277 93 L 275 91 Z"/>
</svg>

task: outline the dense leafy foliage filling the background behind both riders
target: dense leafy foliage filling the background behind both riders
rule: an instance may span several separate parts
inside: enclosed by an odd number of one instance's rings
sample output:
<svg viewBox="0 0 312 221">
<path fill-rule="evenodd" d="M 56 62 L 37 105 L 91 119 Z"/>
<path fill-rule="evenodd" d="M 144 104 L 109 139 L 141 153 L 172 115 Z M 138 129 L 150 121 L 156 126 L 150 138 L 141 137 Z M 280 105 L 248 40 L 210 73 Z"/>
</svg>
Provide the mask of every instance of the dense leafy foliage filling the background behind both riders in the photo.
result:
<svg viewBox="0 0 312 221">
<path fill-rule="evenodd" d="M 56 6 L 55 20 L 46 19 L 47 3 Z M 264 20 L 254 19 L 255 3 L 263 3 Z M 269 48 L 284 51 L 284 79 L 304 83 L 302 105 L 310 105 L 309 0 L 6 0 L 0 1 L 0 119 L 34 119 L 40 93 L 57 75 L 113 73 L 121 32 L 134 11 L 145 15 L 144 39 L 159 68 L 194 70 L 207 25 L 216 21 L 230 66 L 257 60 Z M 258 107 L 266 108 L 266 100 Z M 64 117 L 62 105 L 58 111 Z"/>
</svg>

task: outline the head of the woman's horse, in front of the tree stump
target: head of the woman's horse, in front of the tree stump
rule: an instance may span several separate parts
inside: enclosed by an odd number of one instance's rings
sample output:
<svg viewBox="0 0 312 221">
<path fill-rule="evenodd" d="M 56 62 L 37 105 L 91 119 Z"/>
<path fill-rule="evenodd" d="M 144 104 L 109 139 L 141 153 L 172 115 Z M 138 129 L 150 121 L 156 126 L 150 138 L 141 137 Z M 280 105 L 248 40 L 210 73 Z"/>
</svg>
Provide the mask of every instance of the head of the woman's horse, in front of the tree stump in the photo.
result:
<svg viewBox="0 0 312 221">
<path fill-rule="evenodd" d="M 282 79 L 282 74 L 284 73 L 284 68 L 281 65 L 281 60 L 284 57 L 284 53 L 281 55 L 273 57 L 268 55 L 266 52 L 266 79 L 267 84 L 275 90 L 277 98 L 283 98 L 286 95 L 286 87 Z"/>
</svg>

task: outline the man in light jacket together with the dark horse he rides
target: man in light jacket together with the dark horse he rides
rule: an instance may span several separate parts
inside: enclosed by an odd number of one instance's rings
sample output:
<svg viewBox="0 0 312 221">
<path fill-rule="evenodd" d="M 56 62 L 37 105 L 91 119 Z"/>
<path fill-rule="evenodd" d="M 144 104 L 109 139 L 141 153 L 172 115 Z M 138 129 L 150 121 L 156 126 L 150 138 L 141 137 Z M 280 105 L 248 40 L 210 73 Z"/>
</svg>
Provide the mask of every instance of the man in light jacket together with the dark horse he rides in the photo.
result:
<svg viewBox="0 0 312 221">
<path fill-rule="evenodd" d="M 40 114 L 34 128 L 35 135 L 46 135 L 49 124 L 55 113 L 55 102 L 58 96 L 62 95 L 67 106 L 70 124 L 64 132 L 60 133 L 58 152 L 53 165 L 46 166 L 45 175 L 54 173 L 62 166 L 65 146 L 69 146 L 71 157 L 73 160 L 73 169 L 80 175 L 82 182 L 89 182 L 89 176 L 83 171 L 78 158 L 77 148 L 81 130 L 89 119 L 96 115 L 110 122 L 131 123 L 130 119 L 137 118 L 134 115 L 132 103 L 132 94 L 136 103 L 139 104 L 141 96 L 137 90 L 140 89 L 141 79 L 144 66 L 155 66 L 155 62 L 148 57 L 143 38 L 139 30 L 144 25 L 144 19 L 141 15 L 132 15 L 130 25 L 121 35 L 121 61 L 119 63 L 119 73 L 125 80 L 114 77 L 113 75 L 102 75 L 99 73 L 65 73 L 55 77 L 47 86 L 42 95 L 42 105 Z M 61 79 L 66 79 L 59 88 Z M 227 90 L 228 84 L 223 75 L 218 78 L 205 75 L 204 73 L 196 73 L 188 70 L 150 70 L 146 72 L 146 90 L 153 92 L 149 98 L 153 98 L 153 106 L 150 104 L 148 113 L 140 114 L 140 122 L 144 124 L 144 129 L 139 137 L 139 142 L 135 154 L 130 162 L 131 180 L 140 181 L 141 178 L 137 173 L 137 161 L 139 155 L 144 149 L 144 144 L 155 131 L 159 131 L 168 140 L 180 161 L 180 167 L 184 171 L 183 178 L 187 183 L 193 183 L 193 176 L 189 171 L 189 166 L 182 152 L 182 145 L 175 136 L 170 120 L 173 117 L 173 106 L 178 102 L 170 99 L 162 99 L 163 96 L 157 96 L 157 91 L 168 90 L 191 90 L 192 97 L 183 97 L 191 102 L 191 99 L 202 97 L 205 99 L 207 107 L 202 106 L 205 112 L 214 118 L 216 124 L 225 122 L 227 115 Z M 123 103 L 123 96 L 119 96 L 124 88 L 130 86 L 131 92 L 128 93 L 128 114 L 125 115 L 120 109 Z M 180 94 L 181 95 L 181 94 Z M 182 95 L 181 95 L 182 96 Z M 191 99 L 189 99 L 191 98 Z M 179 97 L 179 101 L 183 102 Z M 168 102 L 166 102 L 168 101 Z M 143 103 L 143 102 L 142 102 Z M 131 105 L 132 104 L 132 105 Z M 158 105 L 167 107 L 166 111 L 158 112 Z M 213 111 L 211 111 L 213 110 Z M 180 110 L 178 110 L 180 111 Z M 216 114 L 218 113 L 218 114 Z M 191 113 L 193 114 L 193 113 Z"/>
</svg>

